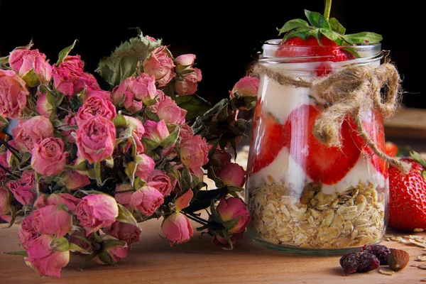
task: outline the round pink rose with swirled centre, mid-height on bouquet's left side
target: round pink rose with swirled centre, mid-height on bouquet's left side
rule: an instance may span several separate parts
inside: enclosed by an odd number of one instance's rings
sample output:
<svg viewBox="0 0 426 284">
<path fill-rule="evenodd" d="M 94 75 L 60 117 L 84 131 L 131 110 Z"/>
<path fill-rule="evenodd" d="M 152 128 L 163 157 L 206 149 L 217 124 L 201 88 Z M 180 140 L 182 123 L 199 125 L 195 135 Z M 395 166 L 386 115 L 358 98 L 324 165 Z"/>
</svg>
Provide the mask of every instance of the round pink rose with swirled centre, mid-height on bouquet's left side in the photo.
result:
<svg viewBox="0 0 426 284">
<path fill-rule="evenodd" d="M 65 169 L 68 155 L 61 138 L 45 138 L 34 145 L 31 167 L 41 175 L 58 175 Z"/>
</svg>

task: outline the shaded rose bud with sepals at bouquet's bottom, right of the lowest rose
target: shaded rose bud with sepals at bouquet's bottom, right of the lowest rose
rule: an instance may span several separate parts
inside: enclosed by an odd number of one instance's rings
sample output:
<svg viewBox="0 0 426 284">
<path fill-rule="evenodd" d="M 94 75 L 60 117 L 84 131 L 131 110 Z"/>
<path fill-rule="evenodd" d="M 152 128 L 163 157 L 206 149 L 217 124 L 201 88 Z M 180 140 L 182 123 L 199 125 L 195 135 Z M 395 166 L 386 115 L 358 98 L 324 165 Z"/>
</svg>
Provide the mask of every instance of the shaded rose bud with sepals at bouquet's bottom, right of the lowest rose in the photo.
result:
<svg viewBox="0 0 426 284">
<path fill-rule="evenodd" d="M 96 261 L 101 264 L 115 264 L 127 256 L 127 244 L 115 244 L 118 239 L 114 236 L 102 235 L 102 251 L 99 252 Z M 111 241 L 111 243 L 109 243 Z"/>
</svg>

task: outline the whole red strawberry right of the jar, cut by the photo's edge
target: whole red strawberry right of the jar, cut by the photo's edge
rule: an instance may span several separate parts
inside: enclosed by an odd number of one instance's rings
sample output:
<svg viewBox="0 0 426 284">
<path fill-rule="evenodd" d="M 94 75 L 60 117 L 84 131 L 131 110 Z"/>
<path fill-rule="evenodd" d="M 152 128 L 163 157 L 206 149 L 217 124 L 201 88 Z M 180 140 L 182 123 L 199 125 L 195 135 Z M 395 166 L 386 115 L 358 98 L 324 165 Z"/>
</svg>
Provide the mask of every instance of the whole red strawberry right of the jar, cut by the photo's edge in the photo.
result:
<svg viewBox="0 0 426 284">
<path fill-rule="evenodd" d="M 425 168 L 410 158 L 403 158 L 411 164 L 411 170 L 404 175 L 393 165 L 389 167 L 389 226 L 394 229 L 413 231 L 426 229 L 426 181 L 422 172 Z"/>
</svg>

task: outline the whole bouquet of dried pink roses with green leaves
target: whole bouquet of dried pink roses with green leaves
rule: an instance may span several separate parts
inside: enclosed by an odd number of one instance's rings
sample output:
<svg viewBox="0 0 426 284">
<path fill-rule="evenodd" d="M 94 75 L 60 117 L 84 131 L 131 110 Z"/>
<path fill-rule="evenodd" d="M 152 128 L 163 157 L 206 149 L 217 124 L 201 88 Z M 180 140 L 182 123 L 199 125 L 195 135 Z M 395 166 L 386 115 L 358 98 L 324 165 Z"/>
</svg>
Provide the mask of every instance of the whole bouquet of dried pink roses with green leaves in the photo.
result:
<svg viewBox="0 0 426 284">
<path fill-rule="evenodd" d="M 53 65 L 32 43 L 0 58 L 0 130 L 18 121 L 13 139 L 0 132 L 0 218 L 19 224 L 23 251 L 9 253 L 40 275 L 59 278 L 70 251 L 117 263 L 151 218 L 170 245 L 190 239 L 192 219 L 229 247 L 251 219 L 226 149 L 245 136 L 237 114 L 256 104 L 258 80 L 211 107 L 195 94 L 195 55 L 138 33 L 99 62 L 104 89 L 69 55 L 75 43 Z"/>
</svg>

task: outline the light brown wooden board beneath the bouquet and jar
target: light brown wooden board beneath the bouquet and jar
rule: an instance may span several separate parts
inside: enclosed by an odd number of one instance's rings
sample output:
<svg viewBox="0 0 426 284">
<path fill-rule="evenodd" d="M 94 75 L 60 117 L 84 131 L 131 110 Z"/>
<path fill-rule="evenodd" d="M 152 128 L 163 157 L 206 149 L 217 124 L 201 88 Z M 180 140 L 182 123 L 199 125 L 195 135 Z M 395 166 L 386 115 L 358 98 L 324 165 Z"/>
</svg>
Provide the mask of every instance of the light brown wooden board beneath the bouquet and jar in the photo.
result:
<svg viewBox="0 0 426 284">
<path fill-rule="evenodd" d="M 1 225 L 4 227 L 4 225 Z M 301 256 L 265 249 L 248 236 L 233 251 L 211 244 L 209 236 L 200 234 L 190 242 L 170 247 L 158 234 L 160 220 L 141 224 L 141 241 L 133 244 L 129 256 L 119 267 L 89 263 L 77 271 L 82 258 L 72 256 L 62 271 L 62 278 L 40 278 L 28 268 L 21 256 L 0 254 L 0 283 L 421 283 L 426 271 L 407 267 L 388 276 L 371 271 L 344 276 L 340 256 Z M 417 233 L 426 236 L 424 233 Z M 421 248 L 384 241 L 389 247 L 410 253 L 410 264 L 425 251 Z M 0 251 L 19 250 L 17 226 L 0 229 Z"/>
</svg>

